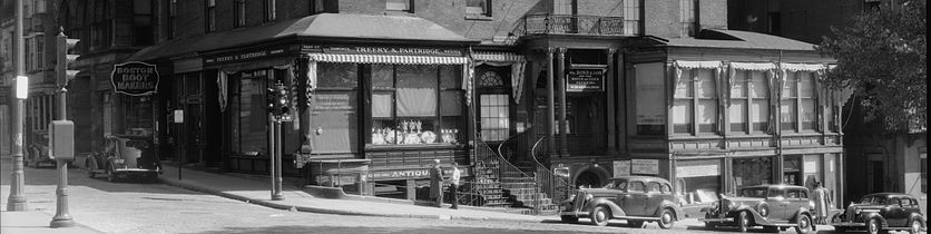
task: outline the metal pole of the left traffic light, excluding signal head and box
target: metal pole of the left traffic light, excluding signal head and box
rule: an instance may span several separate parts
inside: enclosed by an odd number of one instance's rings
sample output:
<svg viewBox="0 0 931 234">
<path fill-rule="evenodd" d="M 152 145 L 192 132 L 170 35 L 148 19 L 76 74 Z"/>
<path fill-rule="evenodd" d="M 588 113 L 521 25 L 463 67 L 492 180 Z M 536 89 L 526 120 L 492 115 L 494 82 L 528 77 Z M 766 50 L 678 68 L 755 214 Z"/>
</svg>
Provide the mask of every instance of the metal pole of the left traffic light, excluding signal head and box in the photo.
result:
<svg viewBox="0 0 931 234">
<path fill-rule="evenodd" d="M 59 37 L 63 37 L 63 35 Z M 58 89 L 59 120 L 68 119 L 68 115 L 66 114 L 66 109 L 68 107 L 66 103 L 68 100 L 68 89 L 65 88 L 65 85 L 66 84 L 59 84 L 60 89 Z M 57 158 L 55 162 L 58 167 L 58 187 L 55 189 L 55 217 L 51 218 L 51 223 L 49 225 L 51 227 L 72 227 L 75 226 L 75 220 L 71 218 L 71 214 L 68 213 L 68 162 L 61 158 Z"/>
</svg>

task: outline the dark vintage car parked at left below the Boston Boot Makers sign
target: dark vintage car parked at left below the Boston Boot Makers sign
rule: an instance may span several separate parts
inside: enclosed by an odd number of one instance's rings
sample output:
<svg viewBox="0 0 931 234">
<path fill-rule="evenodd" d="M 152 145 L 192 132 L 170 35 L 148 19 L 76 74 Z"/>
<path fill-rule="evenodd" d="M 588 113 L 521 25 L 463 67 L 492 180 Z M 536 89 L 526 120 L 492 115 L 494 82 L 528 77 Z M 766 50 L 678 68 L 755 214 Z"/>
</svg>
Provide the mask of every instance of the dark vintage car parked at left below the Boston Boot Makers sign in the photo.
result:
<svg viewBox="0 0 931 234">
<path fill-rule="evenodd" d="M 106 174 L 108 182 L 116 182 L 119 176 L 141 176 L 156 179 L 164 173 L 158 154 L 150 147 L 148 136 L 108 135 L 105 137 L 106 150 L 90 155 L 85 162 L 88 176 Z"/>
</svg>

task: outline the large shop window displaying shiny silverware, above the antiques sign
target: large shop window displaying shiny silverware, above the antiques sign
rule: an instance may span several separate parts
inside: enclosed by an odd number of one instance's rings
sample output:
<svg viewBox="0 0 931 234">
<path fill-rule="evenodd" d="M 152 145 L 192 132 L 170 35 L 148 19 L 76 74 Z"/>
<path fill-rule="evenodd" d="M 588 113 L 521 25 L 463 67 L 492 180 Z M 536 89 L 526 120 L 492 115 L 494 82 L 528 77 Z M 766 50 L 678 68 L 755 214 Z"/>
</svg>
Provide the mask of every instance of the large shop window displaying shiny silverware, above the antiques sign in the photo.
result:
<svg viewBox="0 0 931 234">
<path fill-rule="evenodd" d="M 459 66 L 372 65 L 373 145 L 460 144 Z"/>
</svg>

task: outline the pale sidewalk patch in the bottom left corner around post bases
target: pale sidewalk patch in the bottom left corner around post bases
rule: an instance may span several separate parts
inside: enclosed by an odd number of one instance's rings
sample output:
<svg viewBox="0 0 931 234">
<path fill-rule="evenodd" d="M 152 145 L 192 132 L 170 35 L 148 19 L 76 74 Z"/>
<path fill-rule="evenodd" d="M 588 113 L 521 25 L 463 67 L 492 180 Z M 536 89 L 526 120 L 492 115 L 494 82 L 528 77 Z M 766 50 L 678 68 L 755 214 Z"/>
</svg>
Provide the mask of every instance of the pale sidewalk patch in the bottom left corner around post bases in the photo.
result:
<svg viewBox="0 0 931 234">
<path fill-rule="evenodd" d="M 72 227 L 51 228 L 49 223 L 55 215 L 37 211 L 27 212 L 0 212 L 0 233 L 7 234 L 28 234 L 28 233 L 69 233 L 69 234 L 86 234 L 86 233 L 104 233 L 84 226 L 80 223 Z"/>
</svg>

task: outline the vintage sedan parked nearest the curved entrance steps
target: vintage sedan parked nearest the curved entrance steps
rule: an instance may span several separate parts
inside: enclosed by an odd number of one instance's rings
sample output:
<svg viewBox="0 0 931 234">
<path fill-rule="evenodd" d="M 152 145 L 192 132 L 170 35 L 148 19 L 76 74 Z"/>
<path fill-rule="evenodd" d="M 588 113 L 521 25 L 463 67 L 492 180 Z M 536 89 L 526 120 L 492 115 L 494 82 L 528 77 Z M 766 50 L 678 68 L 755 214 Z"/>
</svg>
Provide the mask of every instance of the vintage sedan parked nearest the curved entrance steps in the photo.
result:
<svg viewBox="0 0 931 234">
<path fill-rule="evenodd" d="M 669 181 L 650 176 L 621 176 L 607 181 L 600 188 L 580 188 L 559 205 L 564 223 L 588 217 L 598 226 L 609 220 L 626 220 L 630 227 L 657 222 L 668 230 L 685 213 L 676 205 Z"/>
</svg>

